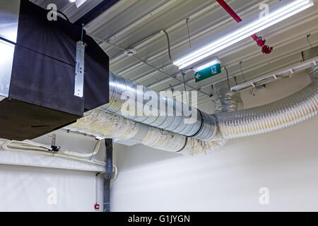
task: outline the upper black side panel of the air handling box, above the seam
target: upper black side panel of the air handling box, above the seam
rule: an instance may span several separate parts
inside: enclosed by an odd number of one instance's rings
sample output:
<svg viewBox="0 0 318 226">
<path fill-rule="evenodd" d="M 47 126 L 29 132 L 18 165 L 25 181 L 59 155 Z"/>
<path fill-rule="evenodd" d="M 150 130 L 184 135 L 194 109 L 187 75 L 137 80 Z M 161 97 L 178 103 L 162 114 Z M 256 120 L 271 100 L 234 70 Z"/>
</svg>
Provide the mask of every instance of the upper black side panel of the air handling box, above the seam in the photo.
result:
<svg viewBox="0 0 318 226">
<path fill-rule="evenodd" d="M 22 0 L 17 43 L 74 66 L 81 28 L 59 17 L 57 21 L 49 21 L 48 12 L 28 0 Z"/>
</svg>

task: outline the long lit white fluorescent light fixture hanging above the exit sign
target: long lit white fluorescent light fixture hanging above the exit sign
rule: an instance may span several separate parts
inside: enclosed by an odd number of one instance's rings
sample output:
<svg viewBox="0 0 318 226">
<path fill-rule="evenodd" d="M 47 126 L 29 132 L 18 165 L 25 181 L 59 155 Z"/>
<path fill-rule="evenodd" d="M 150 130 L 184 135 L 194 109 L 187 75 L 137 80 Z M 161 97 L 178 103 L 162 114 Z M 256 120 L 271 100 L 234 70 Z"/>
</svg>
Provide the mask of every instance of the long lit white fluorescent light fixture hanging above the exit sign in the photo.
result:
<svg viewBox="0 0 318 226">
<path fill-rule="evenodd" d="M 240 42 L 250 35 L 269 28 L 272 25 L 279 23 L 282 20 L 285 20 L 286 18 L 289 18 L 290 16 L 293 16 L 296 13 L 299 13 L 300 11 L 303 11 L 313 5 L 314 3 L 312 0 L 295 0 L 290 4 L 283 6 L 272 13 L 269 13 L 269 15 L 264 16 L 253 23 L 245 25 L 244 27 L 235 30 L 229 35 L 226 35 L 225 37 L 206 45 L 196 52 L 192 52 L 186 57 L 182 57 L 182 59 L 174 61 L 173 64 L 178 66 L 179 69 L 184 69 L 185 67 L 190 66 L 201 59 L 211 56 L 212 54 L 215 54 L 216 52 L 219 52 L 220 50 L 225 49 L 232 44 Z"/>
</svg>

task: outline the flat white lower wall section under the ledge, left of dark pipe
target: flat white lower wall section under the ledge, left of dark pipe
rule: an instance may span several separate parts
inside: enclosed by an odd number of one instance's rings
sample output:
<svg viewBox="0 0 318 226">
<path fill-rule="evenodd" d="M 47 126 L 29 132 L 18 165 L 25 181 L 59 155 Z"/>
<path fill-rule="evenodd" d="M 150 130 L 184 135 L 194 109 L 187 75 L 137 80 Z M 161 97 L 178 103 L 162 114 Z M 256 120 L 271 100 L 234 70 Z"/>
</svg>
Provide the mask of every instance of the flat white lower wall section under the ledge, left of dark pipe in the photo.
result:
<svg viewBox="0 0 318 226">
<path fill-rule="evenodd" d="M 0 211 L 95 211 L 95 172 L 1 164 L 0 184 Z"/>
</svg>

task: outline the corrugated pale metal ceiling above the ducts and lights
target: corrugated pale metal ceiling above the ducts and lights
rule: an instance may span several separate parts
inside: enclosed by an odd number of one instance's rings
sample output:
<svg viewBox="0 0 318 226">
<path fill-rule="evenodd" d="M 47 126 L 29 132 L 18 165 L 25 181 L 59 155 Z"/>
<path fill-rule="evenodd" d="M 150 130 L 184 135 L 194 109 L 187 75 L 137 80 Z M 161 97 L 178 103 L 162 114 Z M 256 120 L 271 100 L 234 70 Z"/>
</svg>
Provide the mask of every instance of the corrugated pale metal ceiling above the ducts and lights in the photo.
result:
<svg viewBox="0 0 318 226">
<path fill-rule="evenodd" d="M 52 2 L 52 0 L 33 1 L 42 6 Z M 273 4 L 278 1 L 227 0 L 227 3 L 244 20 L 260 12 L 260 3 Z M 87 0 L 86 4 L 80 8 L 68 4 L 66 0 L 57 2 L 59 4 L 66 2 L 64 6 L 61 4 L 61 11 L 74 21 L 97 6 L 101 0 Z M 187 35 L 187 18 L 189 18 L 191 49 Z M 243 61 L 242 68 L 247 79 L 301 61 L 300 52 L 310 47 L 307 42 L 307 34 L 312 34 L 310 36 L 312 45 L 318 44 L 317 22 L 318 4 L 316 0 L 315 6 L 259 32 L 261 36 L 266 37 L 267 43 L 274 47 L 271 54 L 261 54 L 259 47 L 247 38 L 211 57 L 218 57 L 223 65 L 227 66 L 230 76 L 237 76 L 237 81 L 241 83 L 243 80 L 239 67 L 240 61 Z M 182 80 L 182 76 L 170 62 L 167 54 L 167 40 L 165 34 L 160 31 L 166 30 L 169 33 L 172 59 L 178 59 L 187 52 L 217 39 L 223 30 L 231 28 L 235 23 L 215 0 L 120 0 L 88 23 L 86 30 L 97 40 L 102 40 L 99 43 L 111 57 L 110 69 L 112 72 L 147 85 L 153 90 L 166 90 L 170 87 L 175 90 L 183 90 L 183 84 L 179 82 Z M 141 40 L 144 41 L 141 42 Z M 134 47 L 137 52 L 136 57 L 170 76 L 176 76 L 177 79 L 169 78 L 136 58 L 122 54 L 122 49 L 107 44 L 107 41 L 123 49 Z M 210 101 L 211 97 L 208 94 L 212 93 L 211 85 L 224 79 L 225 73 L 222 73 L 208 78 L 204 82 L 195 83 L 192 71 L 185 75 L 185 80 L 191 87 L 207 94 L 198 94 L 199 104 Z M 190 87 L 187 88 L 192 90 Z"/>
</svg>

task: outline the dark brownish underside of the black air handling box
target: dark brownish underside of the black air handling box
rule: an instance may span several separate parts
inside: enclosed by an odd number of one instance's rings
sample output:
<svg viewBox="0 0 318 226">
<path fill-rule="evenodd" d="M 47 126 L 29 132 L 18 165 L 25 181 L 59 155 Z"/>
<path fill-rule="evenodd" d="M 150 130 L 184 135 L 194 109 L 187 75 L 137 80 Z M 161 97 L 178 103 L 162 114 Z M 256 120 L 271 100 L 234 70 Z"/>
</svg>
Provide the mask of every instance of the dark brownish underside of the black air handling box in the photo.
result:
<svg viewBox="0 0 318 226">
<path fill-rule="evenodd" d="M 0 102 L 0 109 L 0 137 L 16 141 L 37 138 L 79 118 L 8 98 Z"/>
</svg>

